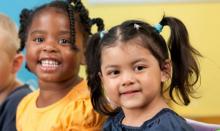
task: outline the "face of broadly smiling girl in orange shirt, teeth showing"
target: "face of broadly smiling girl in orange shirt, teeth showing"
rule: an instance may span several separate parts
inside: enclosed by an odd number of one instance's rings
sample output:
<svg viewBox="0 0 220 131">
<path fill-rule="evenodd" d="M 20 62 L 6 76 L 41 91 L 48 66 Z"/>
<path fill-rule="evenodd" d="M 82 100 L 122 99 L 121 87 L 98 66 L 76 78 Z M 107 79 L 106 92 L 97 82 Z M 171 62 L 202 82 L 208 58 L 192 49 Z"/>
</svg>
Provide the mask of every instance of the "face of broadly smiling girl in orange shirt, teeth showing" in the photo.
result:
<svg viewBox="0 0 220 131">
<path fill-rule="evenodd" d="M 82 34 L 76 22 L 76 46 L 70 43 L 68 14 L 46 8 L 33 18 L 27 36 L 27 66 L 40 81 L 63 82 L 77 79 L 82 57 Z"/>
</svg>

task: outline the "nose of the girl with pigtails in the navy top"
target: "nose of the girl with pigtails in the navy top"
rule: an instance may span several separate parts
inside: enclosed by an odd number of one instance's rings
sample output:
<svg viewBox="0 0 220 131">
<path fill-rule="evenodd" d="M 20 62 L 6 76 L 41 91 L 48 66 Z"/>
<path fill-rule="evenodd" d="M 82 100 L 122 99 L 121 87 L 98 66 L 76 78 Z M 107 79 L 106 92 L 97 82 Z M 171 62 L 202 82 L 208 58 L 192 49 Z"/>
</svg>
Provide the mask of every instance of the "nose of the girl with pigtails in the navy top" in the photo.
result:
<svg viewBox="0 0 220 131">
<path fill-rule="evenodd" d="M 123 73 L 122 75 L 122 86 L 127 87 L 135 83 L 135 76 L 131 72 Z"/>
</svg>

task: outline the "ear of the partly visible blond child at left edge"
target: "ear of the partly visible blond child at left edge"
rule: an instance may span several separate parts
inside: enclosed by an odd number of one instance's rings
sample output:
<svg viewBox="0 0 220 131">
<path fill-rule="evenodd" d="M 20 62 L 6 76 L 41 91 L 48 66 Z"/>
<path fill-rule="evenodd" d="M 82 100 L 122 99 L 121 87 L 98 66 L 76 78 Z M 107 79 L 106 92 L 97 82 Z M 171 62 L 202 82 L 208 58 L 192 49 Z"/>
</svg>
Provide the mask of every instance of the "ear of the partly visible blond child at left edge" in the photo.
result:
<svg viewBox="0 0 220 131">
<path fill-rule="evenodd" d="M 13 59 L 13 67 L 12 67 L 13 73 L 18 72 L 18 70 L 21 68 L 23 60 L 24 60 L 24 57 L 21 53 L 15 55 Z"/>
</svg>

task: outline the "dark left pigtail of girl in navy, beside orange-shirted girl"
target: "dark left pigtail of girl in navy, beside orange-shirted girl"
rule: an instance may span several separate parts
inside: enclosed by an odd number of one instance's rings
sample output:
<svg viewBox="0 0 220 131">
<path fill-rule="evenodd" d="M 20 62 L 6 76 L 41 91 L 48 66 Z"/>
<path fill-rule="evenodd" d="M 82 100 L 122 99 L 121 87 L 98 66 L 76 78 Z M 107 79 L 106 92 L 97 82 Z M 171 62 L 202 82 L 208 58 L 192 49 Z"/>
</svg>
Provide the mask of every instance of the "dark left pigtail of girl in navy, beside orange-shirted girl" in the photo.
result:
<svg viewBox="0 0 220 131">
<path fill-rule="evenodd" d="M 100 33 L 94 34 L 88 41 L 85 57 L 86 57 L 86 73 L 87 84 L 91 92 L 91 101 L 93 108 L 104 115 L 113 115 L 109 102 L 104 96 L 101 79 L 101 37 Z M 101 75 L 101 74 L 100 74 Z"/>
</svg>

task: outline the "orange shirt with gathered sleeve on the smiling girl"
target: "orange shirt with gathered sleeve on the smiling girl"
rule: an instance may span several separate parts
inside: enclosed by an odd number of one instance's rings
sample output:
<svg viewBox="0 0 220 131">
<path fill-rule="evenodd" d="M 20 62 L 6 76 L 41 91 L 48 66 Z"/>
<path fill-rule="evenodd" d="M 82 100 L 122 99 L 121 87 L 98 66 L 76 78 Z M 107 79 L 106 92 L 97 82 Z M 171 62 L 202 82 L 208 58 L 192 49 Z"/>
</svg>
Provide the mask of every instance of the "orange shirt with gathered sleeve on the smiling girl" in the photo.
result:
<svg viewBox="0 0 220 131">
<path fill-rule="evenodd" d="M 36 107 L 39 90 L 26 96 L 18 106 L 18 131 L 100 131 L 105 117 L 92 107 L 86 81 L 76 85 L 64 98 L 44 108 Z"/>
</svg>

